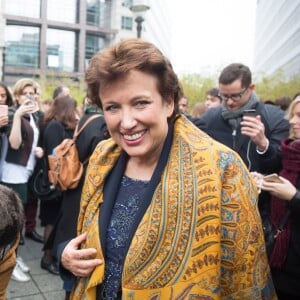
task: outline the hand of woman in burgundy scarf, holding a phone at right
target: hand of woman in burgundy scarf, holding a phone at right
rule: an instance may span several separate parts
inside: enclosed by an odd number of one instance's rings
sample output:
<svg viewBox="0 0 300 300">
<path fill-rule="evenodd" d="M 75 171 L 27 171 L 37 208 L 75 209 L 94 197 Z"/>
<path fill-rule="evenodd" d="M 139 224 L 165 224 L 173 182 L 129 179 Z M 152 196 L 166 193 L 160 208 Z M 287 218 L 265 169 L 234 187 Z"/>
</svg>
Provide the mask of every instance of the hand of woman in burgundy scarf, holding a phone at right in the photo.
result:
<svg viewBox="0 0 300 300">
<path fill-rule="evenodd" d="M 282 180 L 282 183 L 262 180 L 261 189 L 282 200 L 290 201 L 295 196 L 297 189 L 289 180 L 281 176 L 279 178 Z"/>
</svg>

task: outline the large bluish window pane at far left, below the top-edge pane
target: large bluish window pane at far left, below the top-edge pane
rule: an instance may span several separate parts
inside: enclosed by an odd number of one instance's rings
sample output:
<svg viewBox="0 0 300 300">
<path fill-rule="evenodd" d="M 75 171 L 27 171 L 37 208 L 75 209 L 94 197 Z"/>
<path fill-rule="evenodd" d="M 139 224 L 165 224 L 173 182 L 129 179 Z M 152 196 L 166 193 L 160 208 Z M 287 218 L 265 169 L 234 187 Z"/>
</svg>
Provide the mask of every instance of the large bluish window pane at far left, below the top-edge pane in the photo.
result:
<svg viewBox="0 0 300 300">
<path fill-rule="evenodd" d="M 5 65 L 39 68 L 40 29 L 31 26 L 7 25 Z"/>
</svg>

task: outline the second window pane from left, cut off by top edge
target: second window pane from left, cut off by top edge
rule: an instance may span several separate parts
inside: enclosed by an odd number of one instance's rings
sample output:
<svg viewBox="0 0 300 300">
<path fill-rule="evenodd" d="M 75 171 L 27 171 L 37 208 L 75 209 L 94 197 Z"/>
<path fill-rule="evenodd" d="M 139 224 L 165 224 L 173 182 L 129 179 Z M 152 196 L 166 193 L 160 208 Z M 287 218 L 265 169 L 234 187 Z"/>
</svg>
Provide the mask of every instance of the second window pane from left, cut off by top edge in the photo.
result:
<svg viewBox="0 0 300 300">
<path fill-rule="evenodd" d="M 59 22 L 77 23 L 77 0 L 48 0 L 47 19 Z"/>
</svg>

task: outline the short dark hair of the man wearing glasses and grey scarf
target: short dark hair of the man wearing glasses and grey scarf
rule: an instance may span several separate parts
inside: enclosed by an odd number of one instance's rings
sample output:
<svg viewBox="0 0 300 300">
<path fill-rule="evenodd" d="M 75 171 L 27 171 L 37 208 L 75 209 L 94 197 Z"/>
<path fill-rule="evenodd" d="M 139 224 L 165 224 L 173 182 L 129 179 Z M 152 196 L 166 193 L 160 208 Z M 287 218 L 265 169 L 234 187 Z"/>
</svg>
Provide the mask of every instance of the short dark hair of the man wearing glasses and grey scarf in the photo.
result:
<svg viewBox="0 0 300 300">
<path fill-rule="evenodd" d="M 237 79 L 240 79 L 242 82 L 242 87 L 246 88 L 252 82 L 252 75 L 250 69 L 240 63 L 233 63 L 225 67 L 219 76 L 220 84 L 231 84 Z"/>
</svg>

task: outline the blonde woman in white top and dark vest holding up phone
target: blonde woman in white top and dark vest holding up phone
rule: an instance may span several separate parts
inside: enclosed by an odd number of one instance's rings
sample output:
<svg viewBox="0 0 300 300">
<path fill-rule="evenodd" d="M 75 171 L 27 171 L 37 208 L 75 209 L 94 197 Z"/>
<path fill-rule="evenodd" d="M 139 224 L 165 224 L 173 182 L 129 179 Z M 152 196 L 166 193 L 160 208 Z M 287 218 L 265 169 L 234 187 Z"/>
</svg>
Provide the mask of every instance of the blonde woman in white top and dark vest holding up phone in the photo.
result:
<svg viewBox="0 0 300 300">
<path fill-rule="evenodd" d="M 6 156 L 2 167 L 1 182 L 18 193 L 23 205 L 27 203 L 27 183 L 33 172 L 36 157 L 43 156 L 43 149 L 37 147 L 39 129 L 33 117 L 36 111 L 35 93 L 35 81 L 23 78 L 15 83 L 13 94 L 16 110 L 11 130 L 4 140 Z M 30 277 L 26 274 L 27 272 L 29 272 L 29 267 L 18 256 L 12 279 L 21 282 L 29 281 Z"/>
</svg>

